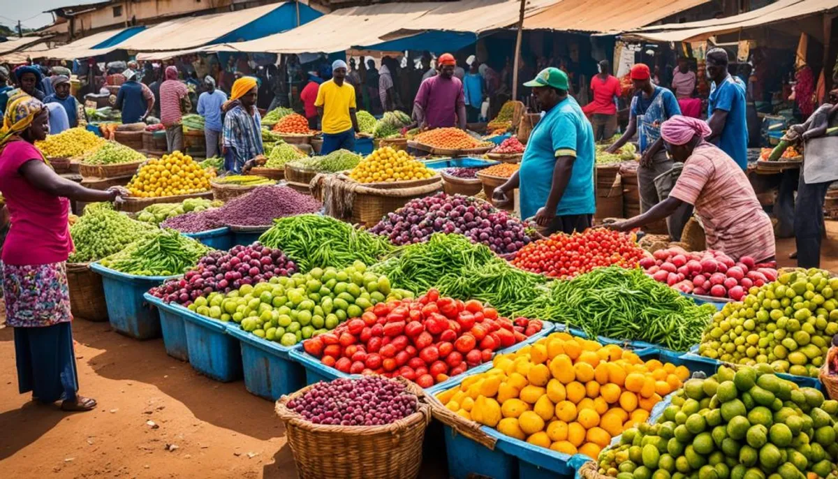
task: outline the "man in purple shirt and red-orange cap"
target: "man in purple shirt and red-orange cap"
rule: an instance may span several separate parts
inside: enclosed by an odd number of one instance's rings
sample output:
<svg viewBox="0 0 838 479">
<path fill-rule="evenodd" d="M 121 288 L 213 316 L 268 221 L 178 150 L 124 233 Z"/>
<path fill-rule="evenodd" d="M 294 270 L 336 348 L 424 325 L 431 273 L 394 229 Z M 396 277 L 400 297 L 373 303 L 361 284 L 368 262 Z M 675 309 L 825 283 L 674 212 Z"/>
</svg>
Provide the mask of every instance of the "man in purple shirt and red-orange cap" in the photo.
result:
<svg viewBox="0 0 838 479">
<path fill-rule="evenodd" d="M 422 80 L 416 100 L 413 101 L 413 117 L 419 126 L 442 128 L 466 127 L 466 100 L 463 82 L 454 77 L 456 60 L 452 54 L 442 54 L 437 59 L 439 75 Z"/>
</svg>

